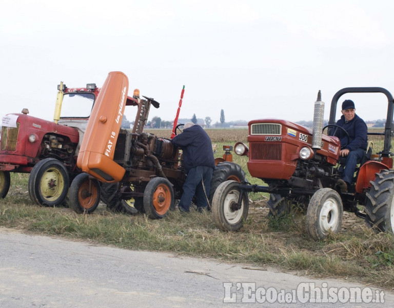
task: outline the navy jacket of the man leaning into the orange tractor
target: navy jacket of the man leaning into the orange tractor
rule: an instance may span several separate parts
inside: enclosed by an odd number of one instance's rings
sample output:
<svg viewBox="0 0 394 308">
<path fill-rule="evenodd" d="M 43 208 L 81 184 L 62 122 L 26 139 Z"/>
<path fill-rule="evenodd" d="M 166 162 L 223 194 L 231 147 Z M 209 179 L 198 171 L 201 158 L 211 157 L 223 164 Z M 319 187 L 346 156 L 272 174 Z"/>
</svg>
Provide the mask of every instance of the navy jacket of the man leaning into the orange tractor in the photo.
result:
<svg viewBox="0 0 394 308">
<path fill-rule="evenodd" d="M 200 125 L 184 129 L 172 139 L 172 144 L 182 149 L 186 172 L 197 166 L 215 167 L 211 140 Z"/>
</svg>

